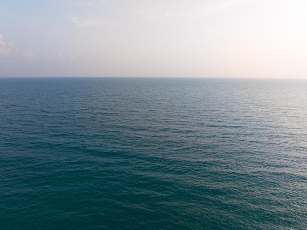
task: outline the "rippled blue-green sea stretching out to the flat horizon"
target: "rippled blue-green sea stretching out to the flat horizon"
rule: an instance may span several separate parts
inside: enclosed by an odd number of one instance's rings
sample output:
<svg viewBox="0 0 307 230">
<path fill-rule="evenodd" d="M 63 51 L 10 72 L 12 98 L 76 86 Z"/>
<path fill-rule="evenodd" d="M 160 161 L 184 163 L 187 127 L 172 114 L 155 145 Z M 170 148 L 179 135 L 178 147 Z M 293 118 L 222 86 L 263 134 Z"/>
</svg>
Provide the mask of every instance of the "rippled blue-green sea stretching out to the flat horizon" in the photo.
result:
<svg viewBox="0 0 307 230">
<path fill-rule="evenodd" d="M 0 229 L 307 229 L 307 80 L 2 78 Z"/>
</svg>

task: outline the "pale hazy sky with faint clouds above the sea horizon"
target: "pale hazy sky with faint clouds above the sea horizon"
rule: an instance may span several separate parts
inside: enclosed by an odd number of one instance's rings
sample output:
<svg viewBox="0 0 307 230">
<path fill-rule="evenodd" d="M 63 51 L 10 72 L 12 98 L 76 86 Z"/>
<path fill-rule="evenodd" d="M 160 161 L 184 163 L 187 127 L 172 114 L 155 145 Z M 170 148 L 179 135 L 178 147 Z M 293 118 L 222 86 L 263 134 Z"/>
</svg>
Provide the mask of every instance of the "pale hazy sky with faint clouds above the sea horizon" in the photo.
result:
<svg viewBox="0 0 307 230">
<path fill-rule="evenodd" d="M 307 0 L 0 0 L 0 77 L 307 78 Z"/>
</svg>

